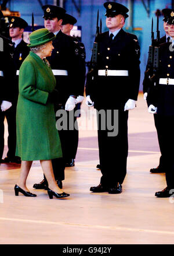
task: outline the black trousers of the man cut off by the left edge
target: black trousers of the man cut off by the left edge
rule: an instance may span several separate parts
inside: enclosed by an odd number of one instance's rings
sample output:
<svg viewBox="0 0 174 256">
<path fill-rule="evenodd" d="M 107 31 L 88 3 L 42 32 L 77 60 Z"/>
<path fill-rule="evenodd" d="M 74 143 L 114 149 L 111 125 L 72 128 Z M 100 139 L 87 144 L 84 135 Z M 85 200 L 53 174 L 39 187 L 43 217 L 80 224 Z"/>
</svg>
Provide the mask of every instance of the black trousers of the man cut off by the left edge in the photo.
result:
<svg viewBox="0 0 174 256">
<path fill-rule="evenodd" d="M 0 159 L 4 149 L 4 120 L 8 122 L 8 153 L 9 158 L 14 158 L 16 152 L 16 104 L 6 111 L 0 112 Z"/>
</svg>

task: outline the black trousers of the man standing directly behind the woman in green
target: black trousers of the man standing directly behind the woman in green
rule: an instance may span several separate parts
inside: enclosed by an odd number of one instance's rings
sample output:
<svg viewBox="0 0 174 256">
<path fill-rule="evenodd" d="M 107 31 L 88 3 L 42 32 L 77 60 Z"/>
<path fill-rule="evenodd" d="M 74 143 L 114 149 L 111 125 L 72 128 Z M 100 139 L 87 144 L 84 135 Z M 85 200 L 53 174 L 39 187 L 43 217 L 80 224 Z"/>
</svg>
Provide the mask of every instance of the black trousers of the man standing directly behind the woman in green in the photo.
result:
<svg viewBox="0 0 174 256">
<path fill-rule="evenodd" d="M 52 165 L 53 165 L 53 172 L 55 175 L 55 180 L 64 180 L 64 169 L 66 162 L 73 158 L 75 159 L 75 155 L 77 153 L 77 147 L 78 147 L 78 129 L 73 129 L 73 124 L 77 120 L 77 117 L 74 117 L 74 111 L 66 111 L 63 110 L 58 106 L 55 106 L 55 113 L 57 111 L 65 111 L 66 115 L 66 120 L 67 124 L 66 127 L 63 127 L 63 129 L 60 129 L 59 132 L 59 137 L 60 137 L 60 142 L 61 142 L 61 150 L 63 157 L 62 158 L 56 158 L 52 159 Z M 73 118 L 73 124 L 71 124 L 72 130 L 69 129 L 69 117 Z M 56 117 L 56 124 L 59 122 L 59 120 L 62 120 L 61 117 Z M 61 123 L 61 126 L 63 124 Z M 76 127 L 78 128 L 77 122 L 76 122 Z"/>
</svg>

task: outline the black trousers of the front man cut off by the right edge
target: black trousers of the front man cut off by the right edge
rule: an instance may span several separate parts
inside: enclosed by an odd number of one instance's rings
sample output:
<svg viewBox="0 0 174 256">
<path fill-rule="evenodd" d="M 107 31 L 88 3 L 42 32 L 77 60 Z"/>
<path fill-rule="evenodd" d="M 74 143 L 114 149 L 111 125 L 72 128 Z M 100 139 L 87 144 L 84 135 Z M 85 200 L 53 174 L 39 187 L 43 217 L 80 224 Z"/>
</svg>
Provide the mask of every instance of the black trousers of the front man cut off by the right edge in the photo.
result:
<svg viewBox="0 0 174 256">
<path fill-rule="evenodd" d="M 158 114 L 157 114 L 158 115 Z M 158 125 L 162 136 L 162 159 L 168 187 L 174 188 L 174 116 L 158 115 Z"/>
</svg>

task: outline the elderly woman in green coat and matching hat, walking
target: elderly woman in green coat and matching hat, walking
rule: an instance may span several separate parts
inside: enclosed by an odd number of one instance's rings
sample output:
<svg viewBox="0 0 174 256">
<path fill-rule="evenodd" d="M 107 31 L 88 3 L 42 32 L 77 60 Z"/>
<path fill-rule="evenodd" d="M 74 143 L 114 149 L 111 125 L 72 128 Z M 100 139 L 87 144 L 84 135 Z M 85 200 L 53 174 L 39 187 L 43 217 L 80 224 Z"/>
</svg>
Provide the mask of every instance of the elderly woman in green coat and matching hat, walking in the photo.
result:
<svg viewBox="0 0 174 256">
<path fill-rule="evenodd" d="M 53 33 L 47 29 L 30 34 L 30 54 L 19 72 L 19 98 L 17 101 L 17 145 L 16 155 L 21 157 L 19 181 L 14 187 L 15 195 L 21 192 L 26 197 L 36 197 L 26 180 L 33 160 L 40 160 L 48 180 L 48 195 L 52 199 L 68 197 L 57 186 L 51 159 L 62 157 L 53 102 L 58 96 L 56 80 L 46 57 L 52 54 Z"/>
</svg>

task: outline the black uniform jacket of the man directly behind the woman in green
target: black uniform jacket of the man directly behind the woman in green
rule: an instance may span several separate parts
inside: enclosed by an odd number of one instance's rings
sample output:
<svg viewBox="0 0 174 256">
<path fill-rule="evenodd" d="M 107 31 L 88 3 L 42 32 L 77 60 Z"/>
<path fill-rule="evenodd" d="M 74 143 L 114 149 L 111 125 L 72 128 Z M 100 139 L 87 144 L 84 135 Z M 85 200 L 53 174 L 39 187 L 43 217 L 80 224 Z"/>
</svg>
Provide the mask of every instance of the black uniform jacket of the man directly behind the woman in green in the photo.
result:
<svg viewBox="0 0 174 256">
<path fill-rule="evenodd" d="M 59 101 L 65 104 L 70 95 L 79 95 L 82 86 L 78 80 L 81 62 L 77 42 L 73 37 L 67 36 L 61 30 L 53 40 L 52 55 L 48 61 L 52 69 L 62 69 L 68 72 L 68 76 L 55 76 L 56 89 L 60 93 Z"/>
</svg>

